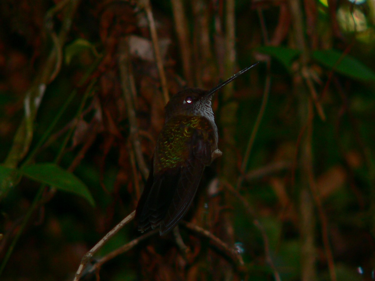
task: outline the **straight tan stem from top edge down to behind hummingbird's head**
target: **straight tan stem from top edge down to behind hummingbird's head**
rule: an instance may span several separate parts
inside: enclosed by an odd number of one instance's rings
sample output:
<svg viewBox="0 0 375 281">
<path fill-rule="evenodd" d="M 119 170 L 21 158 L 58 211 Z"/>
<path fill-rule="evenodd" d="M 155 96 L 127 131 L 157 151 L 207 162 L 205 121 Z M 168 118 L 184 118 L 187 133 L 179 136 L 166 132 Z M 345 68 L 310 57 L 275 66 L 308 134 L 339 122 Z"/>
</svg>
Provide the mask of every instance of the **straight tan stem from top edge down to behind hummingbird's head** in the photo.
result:
<svg viewBox="0 0 375 281">
<path fill-rule="evenodd" d="M 154 16 L 153 16 L 152 9 L 151 9 L 150 0 L 139 0 L 138 6 L 140 8 L 143 8 L 146 12 L 148 25 L 150 26 L 151 40 L 152 40 L 154 52 L 155 52 L 157 70 L 159 72 L 160 83 L 161 83 L 162 90 L 163 90 L 164 102 L 166 104 L 169 101 L 168 85 L 166 82 L 166 77 L 165 77 L 165 72 L 164 72 L 164 67 L 163 67 L 163 60 L 160 55 L 159 40 L 157 39 L 156 25 L 155 25 Z"/>
</svg>

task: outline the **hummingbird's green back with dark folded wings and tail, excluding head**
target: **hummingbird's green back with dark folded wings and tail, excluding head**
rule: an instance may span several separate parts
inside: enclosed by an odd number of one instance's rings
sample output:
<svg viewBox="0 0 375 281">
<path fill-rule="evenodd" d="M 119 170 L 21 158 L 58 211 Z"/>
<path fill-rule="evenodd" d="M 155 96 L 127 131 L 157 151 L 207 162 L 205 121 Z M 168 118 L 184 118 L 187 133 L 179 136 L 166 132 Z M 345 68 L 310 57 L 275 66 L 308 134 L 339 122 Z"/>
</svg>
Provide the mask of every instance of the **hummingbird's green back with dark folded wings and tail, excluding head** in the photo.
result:
<svg viewBox="0 0 375 281">
<path fill-rule="evenodd" d="M 162 235 L 181 220 L 216 148 L 215 131 L 207 118 L 176 116 L 167 121 L 157 140 L 153 167 L 136 209 L 140 231 L 160 226 Z"/>
</svg>

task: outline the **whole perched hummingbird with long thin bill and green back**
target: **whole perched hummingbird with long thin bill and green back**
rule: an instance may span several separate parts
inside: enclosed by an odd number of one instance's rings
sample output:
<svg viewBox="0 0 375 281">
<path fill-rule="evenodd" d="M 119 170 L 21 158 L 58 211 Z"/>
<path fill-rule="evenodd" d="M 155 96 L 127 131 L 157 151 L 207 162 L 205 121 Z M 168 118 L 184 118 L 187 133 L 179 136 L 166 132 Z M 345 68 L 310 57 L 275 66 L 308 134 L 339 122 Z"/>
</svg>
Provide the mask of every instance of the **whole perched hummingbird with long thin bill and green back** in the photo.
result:
<svg viewBox="0 0 375 281">
<path fill-rule="evenodd" d="M 205 166 L 222 155 L 211 107 L 213 94 L 252 67 L 246 67 L 211 90 L 187 88 L 165 106 L 150 174 L 136 207 L 138 230 L 160 235 L 173 229 L 193 202 Z"/>
</svg>

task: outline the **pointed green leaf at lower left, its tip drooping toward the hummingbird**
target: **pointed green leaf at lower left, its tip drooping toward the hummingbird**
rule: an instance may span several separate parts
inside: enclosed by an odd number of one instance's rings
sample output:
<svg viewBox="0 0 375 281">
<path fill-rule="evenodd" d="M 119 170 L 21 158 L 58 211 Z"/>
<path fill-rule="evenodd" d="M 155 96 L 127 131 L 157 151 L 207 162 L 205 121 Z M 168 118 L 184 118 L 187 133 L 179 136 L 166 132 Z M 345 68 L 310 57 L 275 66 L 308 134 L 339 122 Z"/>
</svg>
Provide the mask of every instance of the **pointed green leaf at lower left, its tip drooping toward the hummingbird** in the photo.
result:
<svg viewBox="0 0 375 281">
<path fill-rule="evenodd" d="M 33 164 L 23 167 L 20 172 L 28 178 L 51 185 L 58 190 L 75 193 L 87 199 L 92 206 L 95 206 L 89 188 L 71 172 L 63 170 L 56 164 Z"/>
</svg>

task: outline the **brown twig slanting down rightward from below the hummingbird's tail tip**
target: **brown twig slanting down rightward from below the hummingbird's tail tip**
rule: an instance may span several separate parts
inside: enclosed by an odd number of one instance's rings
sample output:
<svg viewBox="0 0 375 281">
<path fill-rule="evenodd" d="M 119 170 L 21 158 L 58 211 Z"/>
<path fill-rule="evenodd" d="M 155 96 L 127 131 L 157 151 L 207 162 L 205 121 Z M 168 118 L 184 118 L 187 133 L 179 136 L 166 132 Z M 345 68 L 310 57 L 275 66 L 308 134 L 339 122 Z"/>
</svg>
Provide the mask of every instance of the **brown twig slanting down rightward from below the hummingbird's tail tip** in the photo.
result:
<svg viewBox="0 0 375 281">
<path fill-rule="evenodd" d="M 180 225 L 186 227 L 187 229 L 192 230 L 195 233 L 198 233 L 199 235 L 202 235 L 210 240 L 210 242 L 220 251 L 226 254 L 236 265 L 243 266 L 244 262 L 242 259 L 242 256 L 237 254 L 236 250 L 234 248 L 229 247 L 225 242 L 217 238 L 215 235 L 213 235 L 208 230 L 203 229 L 200 226 L 197 226 L 196 224 L 189 223 L 187 221 L 181 221 Z"/>
</svg>

